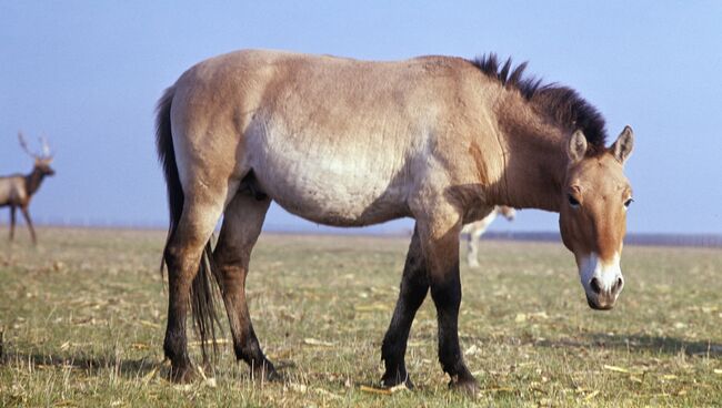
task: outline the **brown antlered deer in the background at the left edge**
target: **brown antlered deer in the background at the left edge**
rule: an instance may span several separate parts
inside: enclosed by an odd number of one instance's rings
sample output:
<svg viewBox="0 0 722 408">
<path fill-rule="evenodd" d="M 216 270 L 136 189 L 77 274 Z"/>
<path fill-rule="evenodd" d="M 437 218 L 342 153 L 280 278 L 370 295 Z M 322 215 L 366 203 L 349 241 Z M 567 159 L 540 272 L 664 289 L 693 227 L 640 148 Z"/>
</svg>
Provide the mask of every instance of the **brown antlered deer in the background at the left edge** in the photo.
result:
<svg viewBox="0 0 722 408">
<path fill-rule="evenodd" d="M 10 207 L 10 241 L 14 238 L 16 210 L 19 207 L 20 212 L 22 212 L 22 216 L 26 218 L 28 230 L 30 230 L 32 243 L 33 245 L 37 245 L 38 239 L 36 237 L 36 231 L 32 227 L 32 221 L 30 220 L 28 207 L 46 176 L 52 176 L 56 174 L 56 171 L 50 167 L 50 163 L 52 163 L 52 154 L 50 153 L 50 146 L 48 145 L 46 137 L 40 137 L 42 144 L 40 154 L 32 153 L 30 149 L 28 149 L 28 143 L 26 142 L 22 132 L 18 132 L 18 140 L 20 141 L 22 150 L 34 160 L 34 165 L 29 174 L 18 173 L 0 176 L 0 207 Z"/>
</svg>

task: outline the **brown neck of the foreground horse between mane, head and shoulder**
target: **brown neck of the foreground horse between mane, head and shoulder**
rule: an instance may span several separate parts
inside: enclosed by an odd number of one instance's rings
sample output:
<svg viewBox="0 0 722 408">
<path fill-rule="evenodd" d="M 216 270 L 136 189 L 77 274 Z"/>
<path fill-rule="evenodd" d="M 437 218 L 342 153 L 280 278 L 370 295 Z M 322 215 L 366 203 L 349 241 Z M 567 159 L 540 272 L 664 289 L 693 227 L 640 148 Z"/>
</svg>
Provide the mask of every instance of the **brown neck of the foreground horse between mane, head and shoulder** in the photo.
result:
<svg viewBox="0 0 722 408">
<path fill-rule="evenodd" d="M 565 131 L 513 106 L 500 121 L 507 146 L 507 165 L 498 193 L 499 204 L 515 208 L 559 212 L 566 173 Z"/>
</svg>

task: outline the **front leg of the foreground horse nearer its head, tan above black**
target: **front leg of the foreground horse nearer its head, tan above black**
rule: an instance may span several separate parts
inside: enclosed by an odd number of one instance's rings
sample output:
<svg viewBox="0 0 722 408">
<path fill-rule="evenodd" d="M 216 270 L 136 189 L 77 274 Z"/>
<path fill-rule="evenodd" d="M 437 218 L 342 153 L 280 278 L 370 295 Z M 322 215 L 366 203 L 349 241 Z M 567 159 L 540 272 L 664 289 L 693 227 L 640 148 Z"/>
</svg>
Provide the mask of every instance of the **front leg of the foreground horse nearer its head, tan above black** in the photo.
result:
<svg viewBox="0 0 722 408">
<path fill-rule="evenodd" d="M 441 206 L 428 220 L 418 221 L 418 225 L 429 269 L 431 298 L 437 307 L 439 361 L 444 373 L 451 377 L 451 388 L 477 394 L 479 385 L 467 368 L 459 345 L 461 216 L 452 206 Z"/>
</svg>

